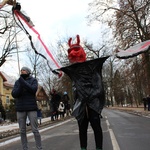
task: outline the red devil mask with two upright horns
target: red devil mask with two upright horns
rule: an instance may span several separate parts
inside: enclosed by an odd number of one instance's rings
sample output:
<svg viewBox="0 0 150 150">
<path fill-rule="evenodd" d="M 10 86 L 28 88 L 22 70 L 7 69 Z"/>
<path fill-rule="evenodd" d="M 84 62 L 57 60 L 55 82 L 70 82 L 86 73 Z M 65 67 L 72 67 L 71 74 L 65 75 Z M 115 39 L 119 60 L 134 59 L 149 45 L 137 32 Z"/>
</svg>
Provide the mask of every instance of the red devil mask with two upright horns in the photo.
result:
<svg viewBox="0 0 150 150">
<path fill-rule="evenodd" d="M 71 63 L 86 61 L 86 54 L 82 46 L 80 46 L 80 37 L 77 35 L 77 43 L 71 44 L 72 38 L 68 40 L 68 59 Z"/>
</svg>

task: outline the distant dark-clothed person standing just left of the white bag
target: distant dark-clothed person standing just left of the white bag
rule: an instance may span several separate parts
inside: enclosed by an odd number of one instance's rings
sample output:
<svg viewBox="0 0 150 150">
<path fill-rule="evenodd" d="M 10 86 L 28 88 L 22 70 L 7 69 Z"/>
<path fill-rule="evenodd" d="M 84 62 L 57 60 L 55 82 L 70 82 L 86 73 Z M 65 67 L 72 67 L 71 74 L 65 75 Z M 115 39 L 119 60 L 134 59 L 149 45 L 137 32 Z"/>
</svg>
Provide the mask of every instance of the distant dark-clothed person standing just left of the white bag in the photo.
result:
<svg viewBox="0 0 150 150">
<path fill-rule="evenodd" d="M 55 89 L 52 89 L 50 92 L 51 95 L 51 101 L 50 101 L 50 106 L 51 106 L 51 120 L 58 120 L 58 107 L 59 103 L 61 101 L 61 96 L 56 92 Z M 54 119 L 55 118 L 55 119 Z"/>
</svg>

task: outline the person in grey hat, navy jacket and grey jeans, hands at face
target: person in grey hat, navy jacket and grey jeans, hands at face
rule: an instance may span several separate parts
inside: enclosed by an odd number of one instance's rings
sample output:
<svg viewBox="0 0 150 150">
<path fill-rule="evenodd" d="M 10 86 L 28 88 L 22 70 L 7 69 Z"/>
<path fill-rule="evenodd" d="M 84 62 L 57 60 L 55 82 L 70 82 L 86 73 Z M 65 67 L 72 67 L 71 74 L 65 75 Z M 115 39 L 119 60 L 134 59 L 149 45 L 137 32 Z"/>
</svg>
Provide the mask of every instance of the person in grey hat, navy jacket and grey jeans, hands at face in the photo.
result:
<svg viewBox="0 0 150 150">
<path fill-rule="evenodd" d="M 30 125 L 35 138 L 36 148 L 38 150 L 42 150 L 41 136 L 39 134 L 37 121 L 37 89 L 38 82 L 31 76 L 31 70 L 28 67 L 22 67 L 20 77 L 15 82 L 15 85 L 13 87 L 12 96 L 16 100 L 15 107 L 23 150 L 28 150 L 26 133 L 27 117 L 29 117 L 30 120 Z"/>
</svg>

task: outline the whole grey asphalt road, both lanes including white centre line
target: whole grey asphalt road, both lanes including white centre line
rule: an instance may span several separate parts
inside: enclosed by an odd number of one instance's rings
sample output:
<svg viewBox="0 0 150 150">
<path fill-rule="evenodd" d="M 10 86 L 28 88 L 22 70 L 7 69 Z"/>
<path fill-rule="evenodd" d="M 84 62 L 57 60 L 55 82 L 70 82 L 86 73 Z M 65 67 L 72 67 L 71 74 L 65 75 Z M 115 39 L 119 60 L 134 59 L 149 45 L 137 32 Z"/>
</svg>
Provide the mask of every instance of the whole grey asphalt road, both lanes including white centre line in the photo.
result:
<svg viewBox="0 0 150 150">
<path fill-rule="evenodd" d="M 150 118 L 104 109 L 101 119 L 104 150 L 149 150 Z M 40 128 L 44 150 L 80 150 L 78 126 L 71 118 Z M 19 137 L 0 147 L 1 150 L 21 150 Z M 36 149 L 33 134 L 28 134 L 29 150 Z M 88 150 L 95 150 L 93 131 L 89 125 Z"/>
</svg>

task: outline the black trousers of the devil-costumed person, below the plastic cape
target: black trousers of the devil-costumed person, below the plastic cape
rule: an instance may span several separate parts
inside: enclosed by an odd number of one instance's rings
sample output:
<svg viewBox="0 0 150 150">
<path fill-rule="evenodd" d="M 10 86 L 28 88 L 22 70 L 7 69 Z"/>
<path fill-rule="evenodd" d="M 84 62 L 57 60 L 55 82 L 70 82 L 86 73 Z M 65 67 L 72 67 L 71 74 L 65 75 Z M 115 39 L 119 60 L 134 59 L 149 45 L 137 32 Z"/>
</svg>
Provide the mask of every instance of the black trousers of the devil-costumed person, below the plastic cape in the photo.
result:
<svg viewBox="0 0 150 150">
<path fill-rule="evenodd" d="M 90 108 L 86 109 L 84 119 L 78 121 L 80 147 L 87 148 L 87 129 L 89 122 L 94 131 L 96 148 L 102 149 L 103 133 L 101 128 L 100 115 Z"/>
</svg>

